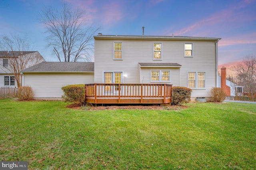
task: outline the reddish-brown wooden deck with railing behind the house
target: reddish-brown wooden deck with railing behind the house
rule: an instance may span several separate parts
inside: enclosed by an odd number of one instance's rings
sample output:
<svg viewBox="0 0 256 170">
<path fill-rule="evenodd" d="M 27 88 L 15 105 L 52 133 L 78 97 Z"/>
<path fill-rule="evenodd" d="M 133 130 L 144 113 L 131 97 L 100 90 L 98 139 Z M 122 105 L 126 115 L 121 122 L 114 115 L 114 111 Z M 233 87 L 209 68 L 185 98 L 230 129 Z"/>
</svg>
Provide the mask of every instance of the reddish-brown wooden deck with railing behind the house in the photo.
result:
<svg viewBox="0 0 256 170">
<path fill-rule="evenodd" d="M 164 104 L 171 103 L 170 84 L 86 84 L 86 103 Z"/>
</svg>

